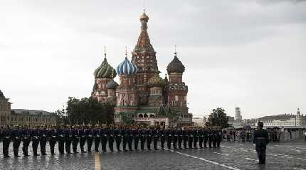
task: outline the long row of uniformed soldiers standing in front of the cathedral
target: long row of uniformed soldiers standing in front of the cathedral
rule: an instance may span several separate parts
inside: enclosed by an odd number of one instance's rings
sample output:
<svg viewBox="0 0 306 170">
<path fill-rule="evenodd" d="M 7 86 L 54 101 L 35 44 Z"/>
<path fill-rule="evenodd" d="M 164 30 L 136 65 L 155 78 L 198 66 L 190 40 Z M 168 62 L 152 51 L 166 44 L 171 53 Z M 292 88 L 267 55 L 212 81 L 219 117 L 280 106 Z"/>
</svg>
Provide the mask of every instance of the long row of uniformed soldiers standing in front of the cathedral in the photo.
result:
<svg viewBox="0 0 306 170">
<path fill-rule="evenodd" d="M 157 126 L 144 128 L 142 126 L 124 126 L 124 125 L 60 125 L 60 127 L 51 126 L 34 126 L 35 128 L 28 128 L 24 125 L 23 128 L 15 126 L 10 128 L 4 126 L 0 128 L 0 141 L 3 142 L 4 157 L 9 156 L 10 142 L 13 142 L 14 156 L 19 157 L 19 147 L 22 145 L 23 155 L 28 156 L 28 146 L 32 141 L 33 156 L 38 156 L 38 145 L 40 145 L 40 152 L 46 155 L 47 141 L 50 145 L 51 154 L 55 153 L 55 145 L 58 142 L 58 151 L 60 154 L 71 154 L 71 145 L 74 153 L 78 153 L 78 145 L 80 151 L 85 153 L 85 143 L 87 144 L 87 152 L 92 152 L 92 146 L 95 152 L 99 152 L 99 146 L 102 145 L 102 151 L 106 152 L 107 142 L 111 152 L 114 151 L 113 145 L 117 147 L 117 151 L 121 152 L 120 145 L 122 143 L 123 151 L 132 151 L 138 149 L 140 142 L 140 149 L 151 150 L 153 147 L 157 149 L 157 142 L 160 141 L 161 149 L 164 149 L 167 143 L 168 149 L 184 149 L 197 148 L 198 142 L 200 148 L 206 148 L 207 143 L 209 147 L 220 147 L 222 135 L 220 130 L 208 130 L 204 128 L 160 128 Z M 134 141 L 134 142 L 133 142 Z M 132 144 L 134 143 L 134 146 Z M 188 145 L 187 145 L 188 144 Z"/>
</svg>

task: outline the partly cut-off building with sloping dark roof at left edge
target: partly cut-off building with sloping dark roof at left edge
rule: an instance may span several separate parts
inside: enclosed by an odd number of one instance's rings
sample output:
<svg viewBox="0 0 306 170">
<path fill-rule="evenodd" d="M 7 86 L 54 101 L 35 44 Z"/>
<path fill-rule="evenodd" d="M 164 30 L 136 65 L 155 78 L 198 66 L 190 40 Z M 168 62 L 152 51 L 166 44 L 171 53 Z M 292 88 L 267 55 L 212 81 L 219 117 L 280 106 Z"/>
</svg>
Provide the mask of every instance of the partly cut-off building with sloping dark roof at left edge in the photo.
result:
<svg viewBox="0 0 306 170">
<path fill-rule="evenodd" d="M 11 123 L 11 102 L 0 90 L 0 125 L 9 125 Z"/>
</svg>

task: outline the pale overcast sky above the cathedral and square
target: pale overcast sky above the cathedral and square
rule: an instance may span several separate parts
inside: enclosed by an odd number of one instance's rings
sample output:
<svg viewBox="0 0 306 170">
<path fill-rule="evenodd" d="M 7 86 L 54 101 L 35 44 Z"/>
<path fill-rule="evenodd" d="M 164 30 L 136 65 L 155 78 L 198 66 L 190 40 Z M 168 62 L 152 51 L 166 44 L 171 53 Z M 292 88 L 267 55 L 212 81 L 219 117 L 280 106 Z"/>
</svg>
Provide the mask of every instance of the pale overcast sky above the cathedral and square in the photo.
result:
<svg viewBox="0 0 306 170">
<path fill-rule="evenodd" d="M 177 45 L 190 113 L 306 113 L 306 1 L 277 0 L 1 1 L 0 89 L 11 108 L 56 111 L 90 96 L 103 46 L 117 67 L 143 6 L 162 77 Z"/>
</svg>

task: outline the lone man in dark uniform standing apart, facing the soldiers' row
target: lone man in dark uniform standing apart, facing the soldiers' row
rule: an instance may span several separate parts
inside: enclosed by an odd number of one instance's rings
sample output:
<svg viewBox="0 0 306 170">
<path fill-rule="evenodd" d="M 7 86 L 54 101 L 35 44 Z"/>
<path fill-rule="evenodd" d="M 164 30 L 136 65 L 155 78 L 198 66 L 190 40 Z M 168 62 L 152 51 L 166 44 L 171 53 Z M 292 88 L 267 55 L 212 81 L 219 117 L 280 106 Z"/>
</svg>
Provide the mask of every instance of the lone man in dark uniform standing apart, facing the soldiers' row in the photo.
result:
<svg viewBox="0 0 306 170">
<path fill-rule="evenodd" d="M 265 149 L 267 149 L 268 142 L 268 132 L 263 130 L 263 123 L 258 122 L 258 130 L 255 130 L 253 137 L 253 143 L 259 159 L 258 164 L 265 164 Z"/>
</svg>

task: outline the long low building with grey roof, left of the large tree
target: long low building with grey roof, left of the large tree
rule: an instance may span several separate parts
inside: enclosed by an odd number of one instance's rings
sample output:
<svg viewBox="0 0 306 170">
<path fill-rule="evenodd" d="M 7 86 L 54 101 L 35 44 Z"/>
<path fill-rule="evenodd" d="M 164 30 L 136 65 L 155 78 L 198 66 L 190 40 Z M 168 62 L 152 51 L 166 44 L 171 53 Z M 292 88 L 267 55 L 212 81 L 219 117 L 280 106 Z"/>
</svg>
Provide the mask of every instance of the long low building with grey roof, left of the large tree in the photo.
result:
<svg viewBox="0 0 306 170">
<path fill-rule="evenodd" d="M 12 109 L 11 125 L 56 125 L 56 113 L 37 110 Z"/>
</svg>

